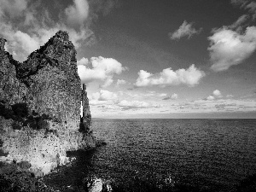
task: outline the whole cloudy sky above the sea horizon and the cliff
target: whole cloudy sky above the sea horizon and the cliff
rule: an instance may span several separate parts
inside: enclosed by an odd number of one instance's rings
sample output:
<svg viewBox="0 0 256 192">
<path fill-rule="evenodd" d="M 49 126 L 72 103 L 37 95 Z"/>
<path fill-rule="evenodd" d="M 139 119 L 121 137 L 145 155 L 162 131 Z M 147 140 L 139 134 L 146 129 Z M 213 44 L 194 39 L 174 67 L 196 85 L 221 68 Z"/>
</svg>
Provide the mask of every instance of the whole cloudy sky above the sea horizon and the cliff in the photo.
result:
<svg viewBox="0 0 256 192">
<path fill-rule="evenodd" d="M 93 118 L 255 118 L 253 0 L 0 0 L 17 61 L 65 30 Z"/>
</svg>

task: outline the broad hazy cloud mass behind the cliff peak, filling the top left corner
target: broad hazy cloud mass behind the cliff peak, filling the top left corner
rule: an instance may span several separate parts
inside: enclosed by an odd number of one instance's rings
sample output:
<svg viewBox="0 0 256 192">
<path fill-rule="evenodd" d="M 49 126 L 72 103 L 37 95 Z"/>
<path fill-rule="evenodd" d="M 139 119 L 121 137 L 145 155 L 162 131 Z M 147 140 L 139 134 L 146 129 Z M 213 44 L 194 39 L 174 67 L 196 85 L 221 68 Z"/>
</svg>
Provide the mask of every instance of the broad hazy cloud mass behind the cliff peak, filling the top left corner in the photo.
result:
<svg viewBox="0 0 256 192">
<path fill-rule="evenodd" d="M 45 6 L 44 1 L 1 0 L 0 35 L 7 39 L 6 48 L 18 61 L 25 61 L 27 55 L 45 44 L 59 30 L 67 31 L 76 49 L 79 49 L 81 45 L 95 41 L 94 33 L 90 30 L 91 20 L 95 20 L 103 11 L 104 15 L 110 12 L 115 6 L 115 1 L 112 2 L 73 0 L 67 8 L 59 6 L 53 12 L 53 9 Z M 100 8 L 106 3 L 108 10 Z"/>
</svg>

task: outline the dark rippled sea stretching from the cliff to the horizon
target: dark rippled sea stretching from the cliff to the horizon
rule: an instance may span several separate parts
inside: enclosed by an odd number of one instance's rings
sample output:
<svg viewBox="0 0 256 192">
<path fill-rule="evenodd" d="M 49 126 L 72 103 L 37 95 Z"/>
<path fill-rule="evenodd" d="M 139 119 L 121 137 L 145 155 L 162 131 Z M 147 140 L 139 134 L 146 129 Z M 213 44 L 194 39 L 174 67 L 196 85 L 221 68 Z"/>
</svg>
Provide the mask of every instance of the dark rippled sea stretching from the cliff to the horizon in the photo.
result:
<svg viewBox="0 0 256 192">
<path fill-rule="evenodd" d="M 224 192 L 256 173 L 256 119 L 93 119 L 92 131 L 107 144 L 71 154 L 75 166 L 56 183 L 93 175 L 126 189 L 168 181 Z"/>
</svg>

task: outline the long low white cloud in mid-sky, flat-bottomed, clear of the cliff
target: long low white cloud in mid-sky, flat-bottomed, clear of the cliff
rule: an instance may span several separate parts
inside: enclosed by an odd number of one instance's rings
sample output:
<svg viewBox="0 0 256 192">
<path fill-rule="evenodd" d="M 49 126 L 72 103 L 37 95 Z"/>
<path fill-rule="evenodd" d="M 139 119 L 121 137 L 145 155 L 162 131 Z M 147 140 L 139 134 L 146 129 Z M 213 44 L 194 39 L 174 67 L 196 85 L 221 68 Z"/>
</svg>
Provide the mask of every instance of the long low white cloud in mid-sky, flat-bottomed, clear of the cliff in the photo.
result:
<svg viewBox="0 0 256 192">
<path fill-rule="evenodd" d="M 187 84 L 189 86 L 195 86 L 199 84 L 205 73 L 196 68 L 195 65 L 191 65 L 188 69 L 178 69 L 173 71 L 172 68 L 166 68 L 160 73 L 152 74 L 144 70 L 140 70 L 138 73 L 137 82 L 134 84 L 137 87 L 146 87 L 151 85 L 177 85 Z"/>
</svg>

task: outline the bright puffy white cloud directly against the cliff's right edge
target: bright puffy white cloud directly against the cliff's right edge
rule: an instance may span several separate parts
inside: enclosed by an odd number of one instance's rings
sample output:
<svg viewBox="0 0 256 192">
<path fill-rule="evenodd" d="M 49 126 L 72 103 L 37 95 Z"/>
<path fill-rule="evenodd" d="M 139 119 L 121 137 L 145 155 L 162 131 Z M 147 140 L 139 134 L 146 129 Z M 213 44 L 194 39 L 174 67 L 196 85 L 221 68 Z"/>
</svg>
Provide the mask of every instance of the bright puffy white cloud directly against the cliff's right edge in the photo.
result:
<svg viewBox="0 0 256 192">
<path fill-rule="evenodd" d="M 113 75 L 127 70 L 119 61 L 113 58 L 91 57 L 90 61 L 84 57 L 78 61 L 78 73 L 84 83 L 102 81 L 102 87 L 113 83 Z"/>
</svg>

